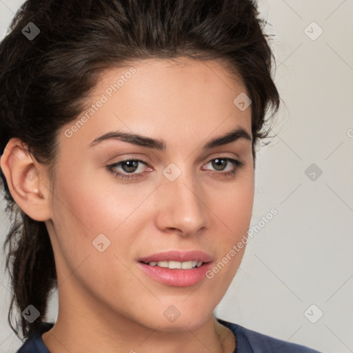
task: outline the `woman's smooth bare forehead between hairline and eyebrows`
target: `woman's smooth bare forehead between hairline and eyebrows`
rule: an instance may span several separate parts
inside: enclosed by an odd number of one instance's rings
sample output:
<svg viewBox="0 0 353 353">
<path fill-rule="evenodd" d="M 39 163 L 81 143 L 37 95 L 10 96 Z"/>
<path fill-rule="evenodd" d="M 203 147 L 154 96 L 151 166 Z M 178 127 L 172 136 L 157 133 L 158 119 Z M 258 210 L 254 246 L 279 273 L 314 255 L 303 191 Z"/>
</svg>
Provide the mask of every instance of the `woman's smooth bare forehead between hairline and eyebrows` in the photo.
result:
<svg viewBox="0 0 353 353">
<path fill-rule="evenodd" d="M 68 124 L 77 125 L 70 140 L 88 146 L 101 134 L 125 130 L 181 144 L 237 126 L 251 136 L 251 107 L 234 103 L 247 93 L 218 61 L 132 61 L 101 73 L 86 109 Z"/>
</svg>

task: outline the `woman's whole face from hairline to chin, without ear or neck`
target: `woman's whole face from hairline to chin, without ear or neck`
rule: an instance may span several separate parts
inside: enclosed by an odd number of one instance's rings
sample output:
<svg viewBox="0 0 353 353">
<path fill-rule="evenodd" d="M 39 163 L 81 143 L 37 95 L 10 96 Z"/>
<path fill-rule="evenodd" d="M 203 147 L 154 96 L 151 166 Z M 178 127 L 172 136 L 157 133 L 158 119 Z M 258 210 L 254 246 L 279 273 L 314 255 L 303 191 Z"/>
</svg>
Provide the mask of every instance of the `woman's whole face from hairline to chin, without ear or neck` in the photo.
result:
<svg viewBox="0 0 353 353">
<path fill-rule="evenodd" d="M 63 311 L 159 330 L 213 315 L 252 214 L 246 93 L 215 61 L 150 59 L 104 72 L 58 137 L 46 224 Z"/>
</svg>

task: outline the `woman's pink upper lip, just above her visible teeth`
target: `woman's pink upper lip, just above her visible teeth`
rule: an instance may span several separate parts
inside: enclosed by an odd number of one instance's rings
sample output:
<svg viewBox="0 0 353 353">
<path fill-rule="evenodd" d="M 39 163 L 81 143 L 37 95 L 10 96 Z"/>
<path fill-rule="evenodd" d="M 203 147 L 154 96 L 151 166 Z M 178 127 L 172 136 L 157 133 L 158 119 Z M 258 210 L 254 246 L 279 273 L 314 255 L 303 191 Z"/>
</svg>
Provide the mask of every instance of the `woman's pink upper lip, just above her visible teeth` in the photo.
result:
<svg viewBox="0 0 353 353">
<path fill-rule="evenodd" d="M 151 261 L 202 261 L 202 262 L 210 262 L 212 261 L 212 256 L 210 254 L 206 254 L 205 252 L 194 250 L 194 251 L 177 251 L 172 250 L 168 252 L 159 252 L 158 254 L 152 254 L 150 256 L 143 257 L 139 259 L 139 261 L 144 263 L 150 263 Z"/>
</svg>

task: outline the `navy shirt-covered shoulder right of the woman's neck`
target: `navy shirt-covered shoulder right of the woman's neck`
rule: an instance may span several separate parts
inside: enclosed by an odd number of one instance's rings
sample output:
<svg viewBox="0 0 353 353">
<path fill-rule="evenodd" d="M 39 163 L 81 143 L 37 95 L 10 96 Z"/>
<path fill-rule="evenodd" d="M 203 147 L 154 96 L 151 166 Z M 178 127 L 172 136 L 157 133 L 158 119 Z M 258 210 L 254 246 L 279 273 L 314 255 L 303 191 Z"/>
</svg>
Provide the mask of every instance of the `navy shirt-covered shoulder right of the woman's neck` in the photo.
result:
<svg viewBox="0 0 353 353">
<path fill-rule="evenodd" d="M 236 350 L 234 353 L 320 353 L 304 345 L 275 339 L 272 336 L 261 334 L 236 323 L 221 319 L 217 320 L 234 333 L 236 337 Z"/>
</svg>

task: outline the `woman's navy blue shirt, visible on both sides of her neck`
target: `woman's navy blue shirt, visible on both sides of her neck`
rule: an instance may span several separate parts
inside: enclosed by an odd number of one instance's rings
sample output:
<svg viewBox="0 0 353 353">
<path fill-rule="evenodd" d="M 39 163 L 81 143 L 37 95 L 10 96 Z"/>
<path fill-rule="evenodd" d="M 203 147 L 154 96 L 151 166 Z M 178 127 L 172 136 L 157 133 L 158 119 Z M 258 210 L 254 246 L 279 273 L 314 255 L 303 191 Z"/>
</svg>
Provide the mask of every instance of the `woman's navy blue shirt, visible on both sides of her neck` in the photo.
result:
<svg viewBox="0 0 353 353">
<path fill-rule="evenodd" d="M 289 343 L 271 336 L 249 330 L 236 323 L 217 319 L 219 323 L 228 327 L 236 338 L 234 353 L 320 353 L 303 345 Z M 41 335 L 52 328 L 54 323 L 41 323 L 39 330 L 32 339 L 27 339 L 17 353 L 50 353 L 41 339 Z"/>
</svg>

